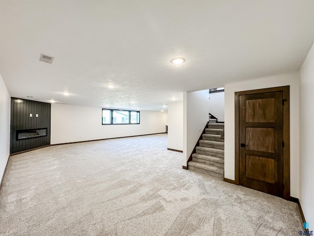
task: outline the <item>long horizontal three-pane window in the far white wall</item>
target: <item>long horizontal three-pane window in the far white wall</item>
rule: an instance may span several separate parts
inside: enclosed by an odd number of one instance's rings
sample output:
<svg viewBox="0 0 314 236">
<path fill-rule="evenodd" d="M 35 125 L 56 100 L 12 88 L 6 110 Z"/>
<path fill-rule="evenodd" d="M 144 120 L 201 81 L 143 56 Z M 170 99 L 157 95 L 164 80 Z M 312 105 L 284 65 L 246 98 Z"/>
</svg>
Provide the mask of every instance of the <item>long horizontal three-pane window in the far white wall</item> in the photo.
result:
<svg viewBox="0 0 314 236">
<path fill-rule="evenodd" d="M 139 124 L 139 111 L 103 109 L 103 124 Z"/>
</svg>

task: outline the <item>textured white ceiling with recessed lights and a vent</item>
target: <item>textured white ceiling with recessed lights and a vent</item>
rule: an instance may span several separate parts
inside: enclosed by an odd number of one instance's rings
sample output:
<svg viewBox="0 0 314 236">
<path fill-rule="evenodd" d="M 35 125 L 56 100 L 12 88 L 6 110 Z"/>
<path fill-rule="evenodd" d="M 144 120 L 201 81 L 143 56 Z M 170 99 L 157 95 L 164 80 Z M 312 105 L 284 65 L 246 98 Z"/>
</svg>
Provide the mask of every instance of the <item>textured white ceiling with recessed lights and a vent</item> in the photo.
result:
<svg viewBox="0 0 314 236">
<path fill-rule="evenodd" d="M 314 0 L 0 0 L 0 74 L 15 97 L 161 110 L 299 70 L 313 29 Z"/>
</svg>

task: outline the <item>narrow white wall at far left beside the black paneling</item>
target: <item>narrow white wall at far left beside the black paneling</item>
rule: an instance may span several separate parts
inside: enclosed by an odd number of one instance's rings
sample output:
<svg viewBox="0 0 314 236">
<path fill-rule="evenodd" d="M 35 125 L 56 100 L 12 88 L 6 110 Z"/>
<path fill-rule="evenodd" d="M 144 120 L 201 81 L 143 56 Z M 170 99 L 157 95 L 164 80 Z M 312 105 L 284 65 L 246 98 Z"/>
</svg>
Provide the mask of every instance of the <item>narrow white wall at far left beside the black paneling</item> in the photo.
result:
<svg viewBox="0 0 314 236">
<path fill-rule="evenodd" d="M 10 100 L 0 75 L 0 180 L 10 155 Z"/>
</svg>

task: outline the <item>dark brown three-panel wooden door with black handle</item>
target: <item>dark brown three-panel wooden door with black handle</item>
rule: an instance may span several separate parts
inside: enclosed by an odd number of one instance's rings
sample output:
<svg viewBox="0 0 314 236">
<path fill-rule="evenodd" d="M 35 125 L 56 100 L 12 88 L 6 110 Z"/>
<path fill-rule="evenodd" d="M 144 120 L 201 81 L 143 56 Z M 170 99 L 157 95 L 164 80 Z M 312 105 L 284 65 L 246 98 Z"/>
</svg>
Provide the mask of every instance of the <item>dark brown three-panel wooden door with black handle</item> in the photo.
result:
<svg viewBox="0 0 314 236">
<path fill-rule="evenodd" d="M 283 197 L 283 91 L 239 96 L 239 184 Z"/>
</svg>

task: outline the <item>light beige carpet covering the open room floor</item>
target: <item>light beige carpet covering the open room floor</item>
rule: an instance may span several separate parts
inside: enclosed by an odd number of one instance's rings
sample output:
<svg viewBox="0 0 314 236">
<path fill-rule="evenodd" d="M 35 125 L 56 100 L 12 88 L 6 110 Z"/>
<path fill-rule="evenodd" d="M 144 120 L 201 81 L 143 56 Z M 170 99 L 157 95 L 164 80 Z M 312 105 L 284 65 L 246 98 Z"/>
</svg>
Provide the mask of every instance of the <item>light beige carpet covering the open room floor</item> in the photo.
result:
<svg viewBox="0 0 314 236">
<path fill-rule="evenodd" d="M 10 157 L 3 236 L 296 236 L 297 204 L 182 169 L 167 136 L 42 148 Z"/>
</svg>

